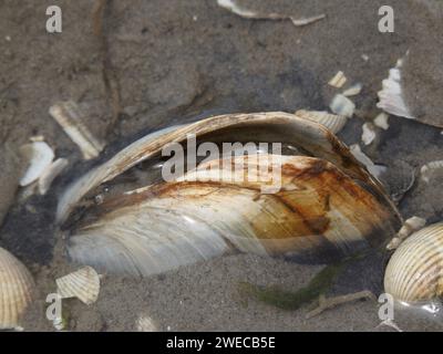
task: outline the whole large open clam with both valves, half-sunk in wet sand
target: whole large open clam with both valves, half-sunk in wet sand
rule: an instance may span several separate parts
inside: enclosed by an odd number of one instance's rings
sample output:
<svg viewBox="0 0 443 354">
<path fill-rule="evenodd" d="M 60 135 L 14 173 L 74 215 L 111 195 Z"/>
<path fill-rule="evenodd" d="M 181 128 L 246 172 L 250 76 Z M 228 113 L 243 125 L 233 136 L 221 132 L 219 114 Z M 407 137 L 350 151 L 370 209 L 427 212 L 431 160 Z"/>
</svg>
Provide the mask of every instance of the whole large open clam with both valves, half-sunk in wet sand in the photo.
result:
<svg viewBox="0 0 443 354">
<path fill-rule="evenodd" d="M 274 194 L 261 192 L 264 181 L 236 178 L 225 157 L 91 202 L 102 184 L 156 160 L 162 147 L 188 134 L 198 143 L 279 142 L 298 153 L 259 155 L 271 170 L 281 168 Z M 237 163 L 248 171 L 262 167 L 257 155 Z M 58 217 L 76 221 L 74 261 L 142 275 L 233 251 L 324 263 L 381 246 L 400 228 L 383 188 L 349 149 L 320 124 L 286 113 L 224 115 L 145 136 L 69 187 Z"/>
</svg>

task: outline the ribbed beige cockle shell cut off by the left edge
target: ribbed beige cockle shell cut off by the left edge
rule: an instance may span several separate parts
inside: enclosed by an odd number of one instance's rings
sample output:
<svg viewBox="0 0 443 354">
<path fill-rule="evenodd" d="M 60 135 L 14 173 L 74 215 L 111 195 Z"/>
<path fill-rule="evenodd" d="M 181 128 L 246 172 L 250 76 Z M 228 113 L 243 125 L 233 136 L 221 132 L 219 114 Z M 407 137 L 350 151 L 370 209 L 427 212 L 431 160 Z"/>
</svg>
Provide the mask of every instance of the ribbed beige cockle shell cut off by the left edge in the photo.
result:
<svg viewBox="0 0 443 354">
<path fill-rule="evenodd" d="M 34 282 L 28 269 L 0 248 L 0 330 L 13 329 L 32 299 Z"/>
</svg>

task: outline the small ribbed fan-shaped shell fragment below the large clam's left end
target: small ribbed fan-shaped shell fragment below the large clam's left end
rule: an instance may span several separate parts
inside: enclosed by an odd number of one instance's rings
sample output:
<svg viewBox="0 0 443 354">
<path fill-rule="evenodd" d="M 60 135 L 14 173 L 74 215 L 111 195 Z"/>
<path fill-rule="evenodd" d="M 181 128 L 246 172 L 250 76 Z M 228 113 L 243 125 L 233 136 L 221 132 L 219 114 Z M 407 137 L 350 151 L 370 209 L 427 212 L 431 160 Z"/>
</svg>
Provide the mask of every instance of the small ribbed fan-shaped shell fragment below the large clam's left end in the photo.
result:
<svg viewBox="0 0 443 354">
<path fill-rule="evenodd" d="M 62 299 L 78 298 L 86 305 L 93 304 L 99 299 L 100 275 L 92 267 L 83 267 L 56 279 L 55 283 Z"/>
</svg>

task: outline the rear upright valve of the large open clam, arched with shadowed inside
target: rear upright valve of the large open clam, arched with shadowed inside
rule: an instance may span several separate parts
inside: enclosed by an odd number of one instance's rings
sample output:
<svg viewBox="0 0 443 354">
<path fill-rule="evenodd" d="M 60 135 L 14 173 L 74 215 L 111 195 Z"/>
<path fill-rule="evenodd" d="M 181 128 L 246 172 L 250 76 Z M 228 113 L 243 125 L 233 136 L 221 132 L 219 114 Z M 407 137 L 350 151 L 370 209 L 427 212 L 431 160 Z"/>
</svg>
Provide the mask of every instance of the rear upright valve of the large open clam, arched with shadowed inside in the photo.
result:
<svg viewBox="0 0 443 354">
<path fill-rule="evenodd" d="M 196 123 L 169 127 L 148 134 L 134 142 L 106 163 L 93 168 L 62 195 L 56 217 L 63 222 L 79 207 L 86 195 L 96 195 L 99 186 L 113 180 L 133 166 L 158 156 L 169 143 L 184 143 L 188 135 L 198 142 L 265 142 L 291 144 L 308 155 L 323 158 L 348 176 L 359 180 L 368 189 L 390 202 L 381 184 L 353 157 L 324 126 L 293 114 L 271 112 L 255 114 L 229 114 Z"/>
</svg>

